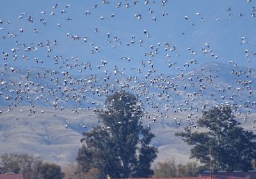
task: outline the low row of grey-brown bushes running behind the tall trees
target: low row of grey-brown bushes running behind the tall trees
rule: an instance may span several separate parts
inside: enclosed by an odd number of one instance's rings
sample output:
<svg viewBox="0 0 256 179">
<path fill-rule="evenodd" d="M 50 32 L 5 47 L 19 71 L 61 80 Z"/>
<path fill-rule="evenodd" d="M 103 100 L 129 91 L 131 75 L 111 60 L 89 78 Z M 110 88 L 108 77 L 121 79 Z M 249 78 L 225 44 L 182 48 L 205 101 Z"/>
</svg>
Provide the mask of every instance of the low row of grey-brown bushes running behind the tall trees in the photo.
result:
<svg viewBox="0 0 256 179">
<path fill-rule="evenodd" d="M 196 176 L 201 166 L 196 162 L 188 164 L 177 164 L 174 159 L 158 162 L 154 168 L 154 176 Z M 79 165 L 70 163 L 65 166 L 63 172 L 57 164 L 43 162 L 40 157 L 33 157 L 28 154 L 3 154 L 0 162 L 1 173 L 22 173 L 28 179 L 99 179 L 102 178 L 102 171 L 91 168 L 83 171 Z M 65 173 L 65 176 L 64 176 Z"/>
</svg>

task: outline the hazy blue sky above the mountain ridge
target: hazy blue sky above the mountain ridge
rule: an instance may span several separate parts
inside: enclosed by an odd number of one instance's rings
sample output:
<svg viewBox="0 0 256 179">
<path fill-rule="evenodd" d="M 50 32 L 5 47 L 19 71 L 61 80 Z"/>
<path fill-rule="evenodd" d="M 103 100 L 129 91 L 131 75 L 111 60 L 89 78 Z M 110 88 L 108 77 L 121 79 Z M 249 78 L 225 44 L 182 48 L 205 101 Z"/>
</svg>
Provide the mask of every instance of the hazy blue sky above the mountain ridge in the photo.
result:
<svg viewBox="0 0 256 179">
<path fill-rule="evenodd" d="M 119 2 L 122 2 L 122 5 L 116 8 Z M 125 8 L 127 3 L 130 8 Z M 52 8 L 55 4 L 58 4 L 57 8 Z M 71 6 L 66 8 L 67 4 Z M 92 8 L 96 4 L 97 8 Z M 165 72 L 165 74 L 177 72 L 173 70 L 175 67 L 184 68 L 184 63 L 191 59 L 195 59 L 198 65 L 210 61 L 221 63 L 234 61 L 241 66 L 255 67 L 256 56 L 251 55 L 256 52 L 256 17 L 252 17 L 251 11 L 253 6 L 256 6 L 255 1 L 248 3 L 246 0 L 168 0 L 164 6 L 161 5 L 161 1 L 156 3 L 148 1 L 148 4 L 139 1 L 136 5 L 133 1 L 120 0 L 109 0 L 109 4 L 96 0 L 1 1 L 0 20 L 3 20 L 3 24 L 0 24 L 0 28 L 3 29 L 0 35 L 6 38 L 0 39 L 0 48 L 2 52 L 9 53 L 8 60 L 1 60 L 1 63 L 56 69 L 63 66 L 61 69 L 70 70 L 61 64 L 64 59 L 67 59 L 65 63 L 73 65 L 90 61 L 93 74 L 104 70 L 113 72 L 116 65 L 118 70 L 125 68 L 127 75 L 136 72 L 131 68 L 141 68 L 143 74 L 147 73 L 149 66 L 144 69 L 141 61 L 148 64 L 147 61 L 150 59 L 157 73 Z M 228 8 L 231 10 L 227 11 Z M 149 9 L 154 13 L 148 13 Z M 65 10 L 66 13 L 61 13 L 61 10 Z M 90 15 L 85 15 L 87 10 L 91 12 Z M 163 11 L 168 15 L 163 17 Z M 51 12 L 55 15 L 51 15 Z M 22 15 L 22 13 L 26 14 Z M 113 13 L 115 17 L 111 17 Z M 135 13 L 140 13 L 142 19 L 138 20 L 134 17 Z M 243 16 L 239 16 L 239 13 Z M 22 18 L 19 19 L 20 15 Z M 28 22 L 29 16 L 33 17 L 33 22 Z M 184 19 L 185 16 L 188 16 L 188 20 Z M 68 17 L 71 20 L 66 20 Z M 100 17 L 104 19 L 100 20 Z M 152 17 L 157 18 L 156 22 Z M 218 18 L 220 20 L 216 20 Z M 8 21 L 11 23 L 7 24 Z M 46 26 L 43 26 L 43 22 L 46 22 Z M 57 24 L 60 24 L 60 27 Z M 24 33 L 20 33 L 20 28 L 24 29 Z M 34 33 L 35 28 L 38 33 Z M 98 33 L 94 32 L 95 28 L 98 29 Z M 147 30 L 150 34 L 149 38 L 143 30 Z M 8 32 L 16 33 L 17 37 L 8 37 Z M 70 35 L 67 36 L 67 33 Z M 109 38 L 107 33 L 110 33 Z M 72 41 L 71 36 L 80 36 L 80 40 Z M 84 36 L 88 36 L 86 43 L 83 41 Z M 132 36 L 135 38 L 132 39 Z M 246 37 L 248 43 L 241 45 L 242 36 Z M 114 37 L 120 38 L 120 41 L 115 42 Z M 24 51 L 26 47 L 38 47 L 38 42 L 46 44 L 47 40 L 51 42 L 51 52 L 47 52 L 46 47 L 38 48 L 38 51 Z M 54 40 L 57 45 L 53 45 Z M 107 40 L 111 42 L 108 43 Z M 132 40 L 134 43 L 131 44 Z M 139 40 L 143 40 L 143 43 Z M 16 41 L 19 41 L 19 46 L 16 45 Z M 119 42 L 122 42 L 122 45 Z M 165 51 L 164 42 L 172 43 L 177 50 Z M 22 47 L 24 43 L 26 47 Z M 158 54 L 145 56 L 145 53 L 156 50 L 157 43 L 161 43 Z M 205 43 L 209 43 L 209 48 Z M 154 45 L 153 50 L 150 49 L 150 45 Z M 116 48 L 114 49 L 113 46 Z M 17 47 L 19 51 L 12 53 L 11 49 Z M 99 47 L 100 52 L 92 54 L 91 51 L 95 51 L 95 47 Z M 202 48 L 211 52 L 203 54 L 200 50 Z M 250 56 L 245 57 L 245 50 L 248 50 Z M 191 54 L 192 51 L 196 54 Z M 13 54 L 17 54 L 19 59 L 13 61 Z M 218 56 L 218 59 L 211 54 Z M 22 55 L 28 56 L 29 59 L 25 61 Z M 49 57 L 46 57 L 47 55 Z M 167 55 L 170 58 L 166 58 Z M 63 59 L 58 60 L 58 64 L 54 64 L 54 56 L 62 56 Z M 131 61 L 121 60 L 123 56 L 131 58 Z M 71 59 L 72 57 L 77 57 L 77 61 Z M 34 58 L 44 63 L 36 63 Z M 108 64 L 98 69 L 97 65 L 101 65 L 102 60 L 108 61 Z M 248 60 L 251 62 L 248 63 Z M 175 65 L 168 68 L 170 63 Z M 186 66 L 186 69 L 191 70 L 198 65 Z M 79 73 L 78 70 L 79 67 L 73 67 L 70 71 L 76 74 Z M 91 74 L 92 71 L 84 70 L 84 73 Z"/>
</svg>

